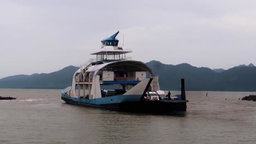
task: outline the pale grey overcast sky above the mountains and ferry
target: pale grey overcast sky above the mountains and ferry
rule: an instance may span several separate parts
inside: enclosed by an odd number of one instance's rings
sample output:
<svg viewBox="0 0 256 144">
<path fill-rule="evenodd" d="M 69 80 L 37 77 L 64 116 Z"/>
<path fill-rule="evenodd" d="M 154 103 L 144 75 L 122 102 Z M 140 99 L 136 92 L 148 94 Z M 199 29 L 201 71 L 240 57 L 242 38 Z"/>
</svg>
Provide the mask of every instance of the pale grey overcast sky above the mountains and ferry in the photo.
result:
<svg viewBox="0 0 256 144">
<path fill-rule="evenodd" d="M 0 0 L 0 78 L 79 66 L 118 30 L 142 62 L 256 64 L 255 0 Z"/>
</svg>

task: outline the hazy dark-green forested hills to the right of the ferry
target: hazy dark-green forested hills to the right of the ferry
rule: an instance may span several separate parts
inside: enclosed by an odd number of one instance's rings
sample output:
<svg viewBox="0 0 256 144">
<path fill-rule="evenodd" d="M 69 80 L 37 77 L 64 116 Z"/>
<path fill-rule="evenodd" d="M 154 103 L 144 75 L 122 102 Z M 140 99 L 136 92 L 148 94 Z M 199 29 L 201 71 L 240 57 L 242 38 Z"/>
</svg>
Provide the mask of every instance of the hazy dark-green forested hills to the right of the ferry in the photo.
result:
<svg viewBox="0 0 256 144">
<path fill-rule="evenodd" d="M 159 84 L 165 90 L 177 90 L 185 79 L 189 91 L 256 91 L 256 67 L 234 67 L 221 73 L 190 64 L 162 64 L 150 61 L 147 65 L 159 75 Z"/>
</svg>

